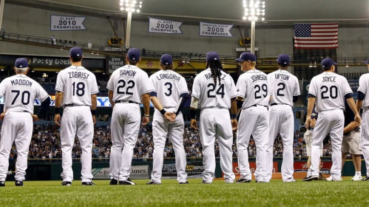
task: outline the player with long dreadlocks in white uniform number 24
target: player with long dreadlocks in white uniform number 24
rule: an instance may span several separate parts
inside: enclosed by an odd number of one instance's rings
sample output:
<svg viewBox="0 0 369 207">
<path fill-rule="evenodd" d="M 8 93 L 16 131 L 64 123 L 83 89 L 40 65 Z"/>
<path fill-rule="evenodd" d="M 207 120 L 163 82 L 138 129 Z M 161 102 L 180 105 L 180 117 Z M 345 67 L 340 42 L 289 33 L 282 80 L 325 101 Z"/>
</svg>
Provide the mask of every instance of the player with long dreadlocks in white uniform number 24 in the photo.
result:
<svg viewBox="0 0 369 207">
<path fill-rule="evenodd" d="M 232 130 L 237 128 L 237 91 L 230 75 L 222 71 L 219 55 L 207 53 L 207 69 L 199 73 L 193 83 L 191 99 L 191 127 L 197 129 L 196 110 L 200 113 L 200 139 L 203 154 L 202 183 L 212 183 L 215 174 L 215 138 L 218 139 L 220 168 L 224 181 L 233 183 Z M 231 119 L 229 109 L 231 108 Z"/>
</svg>

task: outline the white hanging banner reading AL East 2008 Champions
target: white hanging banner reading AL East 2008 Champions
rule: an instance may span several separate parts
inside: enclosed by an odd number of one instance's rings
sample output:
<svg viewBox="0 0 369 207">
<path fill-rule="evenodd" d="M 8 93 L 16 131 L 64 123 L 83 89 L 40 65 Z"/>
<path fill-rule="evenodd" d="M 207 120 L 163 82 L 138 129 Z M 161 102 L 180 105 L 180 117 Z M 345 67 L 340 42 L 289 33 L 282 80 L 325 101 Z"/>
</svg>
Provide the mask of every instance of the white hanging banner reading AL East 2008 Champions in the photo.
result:
<svg viewBox="0 0 369 207">
<path fill-rule="evenodd" d="M 180 30 L 182 21 L 171 21 L 165 19 L 149 18 L 149 32 L 183 34 Z"/>
</svg>

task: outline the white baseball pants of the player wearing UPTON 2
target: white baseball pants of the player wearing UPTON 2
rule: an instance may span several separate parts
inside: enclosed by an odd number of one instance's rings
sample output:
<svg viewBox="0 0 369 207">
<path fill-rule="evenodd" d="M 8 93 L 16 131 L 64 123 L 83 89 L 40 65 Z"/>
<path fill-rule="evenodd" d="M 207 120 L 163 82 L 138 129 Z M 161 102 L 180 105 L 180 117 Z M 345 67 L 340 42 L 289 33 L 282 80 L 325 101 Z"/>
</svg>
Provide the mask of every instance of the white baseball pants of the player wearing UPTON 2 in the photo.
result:
<svg viewBox="0 0 369 207">
<path fill-rule="evenodd" d="M 275 137 L 280 134 L 283 141 L 282 180 L 293 181 L 294 159 L 294 116 L 290 105 L 273 105 L 269 108 L 269 142 L 267 144 L 267 179 L 272 179 L 273 146 Z"/>
</svg>

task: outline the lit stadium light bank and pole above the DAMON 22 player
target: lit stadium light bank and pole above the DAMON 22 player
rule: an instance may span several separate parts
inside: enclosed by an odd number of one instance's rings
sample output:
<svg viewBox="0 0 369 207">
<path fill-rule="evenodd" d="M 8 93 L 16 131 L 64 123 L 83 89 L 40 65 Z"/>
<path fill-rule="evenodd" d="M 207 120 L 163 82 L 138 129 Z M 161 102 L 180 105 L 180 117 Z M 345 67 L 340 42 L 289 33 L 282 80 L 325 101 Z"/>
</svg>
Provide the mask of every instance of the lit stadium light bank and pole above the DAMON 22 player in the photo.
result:
<svg viewBox="0 0 369 207">
<path fill-rule="evenodd" d="M 119 0 L 120 11 L 127 12 L 127 31 L 126 31 L 126 45 L 125 45 L 126 49 L 130 47 L 132 13 L 133 12 L 139 13 L 141 8 L 142 8 L 141 1 Z"/>
</svg>

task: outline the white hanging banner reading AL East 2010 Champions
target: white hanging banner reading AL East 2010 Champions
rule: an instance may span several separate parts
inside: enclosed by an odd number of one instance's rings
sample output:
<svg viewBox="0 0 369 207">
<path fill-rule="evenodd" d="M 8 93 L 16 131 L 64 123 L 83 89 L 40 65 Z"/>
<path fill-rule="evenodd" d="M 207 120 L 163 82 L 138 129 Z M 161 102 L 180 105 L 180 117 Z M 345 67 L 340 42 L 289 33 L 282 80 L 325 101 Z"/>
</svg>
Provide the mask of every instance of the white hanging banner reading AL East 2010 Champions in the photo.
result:
<svg viewBox="0 0 369 207">
<path fill-rule="evenodd" d="M 50 15 L 50 30 L 86 30 L 85 19 L 86 16 Z"/>
</svg>

